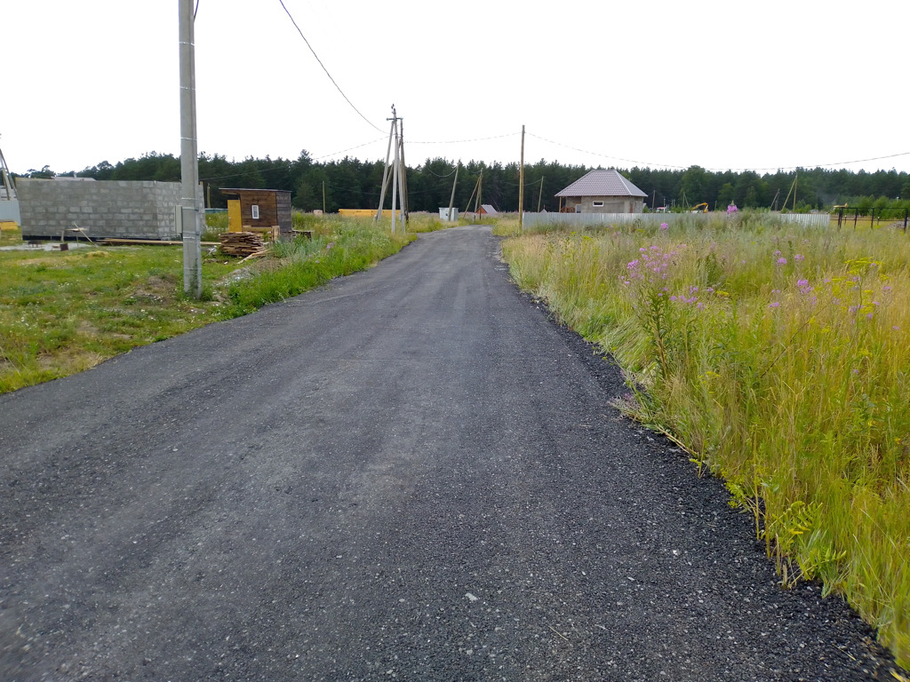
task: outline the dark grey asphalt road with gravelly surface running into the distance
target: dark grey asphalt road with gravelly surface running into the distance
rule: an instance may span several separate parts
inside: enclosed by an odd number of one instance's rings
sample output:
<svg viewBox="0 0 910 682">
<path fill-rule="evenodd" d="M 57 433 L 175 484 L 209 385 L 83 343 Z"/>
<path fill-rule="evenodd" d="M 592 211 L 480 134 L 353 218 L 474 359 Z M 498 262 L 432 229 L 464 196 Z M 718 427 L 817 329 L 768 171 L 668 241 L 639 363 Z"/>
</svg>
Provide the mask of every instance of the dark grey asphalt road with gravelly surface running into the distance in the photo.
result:
<svg viewBox="0 0 910 682">
<path fill-rule="evenodd" d="M 498 247 L 0 396 L 0 679 L 893 680 Z"/>
</svg>

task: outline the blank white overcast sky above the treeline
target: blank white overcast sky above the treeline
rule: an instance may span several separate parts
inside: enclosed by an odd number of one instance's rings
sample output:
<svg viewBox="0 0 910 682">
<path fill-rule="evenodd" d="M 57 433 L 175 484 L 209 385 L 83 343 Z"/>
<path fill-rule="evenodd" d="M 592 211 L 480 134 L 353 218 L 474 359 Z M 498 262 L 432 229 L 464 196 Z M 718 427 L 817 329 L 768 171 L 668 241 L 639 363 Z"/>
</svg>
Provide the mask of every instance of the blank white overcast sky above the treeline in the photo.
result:
<svg viewBox="0 0 910 682">
<path fill-rule="evenodd" d="M 910 171 L 905 2 L 285 5 L 380 131 L 339 95 L 278 0 L 200 0 L 200 151 L 384 158 L 394 103 L 409 165 L 518 161 L 523 124 L 529 163 Z M 177 9 L 177 0 L 2 0 L 0 148 L 10 168 L 178 155 Z M 498 135 L 508 136 L 418 144 Z M 844 163 L 889 155 L 898 156 Z"/>
</svg>

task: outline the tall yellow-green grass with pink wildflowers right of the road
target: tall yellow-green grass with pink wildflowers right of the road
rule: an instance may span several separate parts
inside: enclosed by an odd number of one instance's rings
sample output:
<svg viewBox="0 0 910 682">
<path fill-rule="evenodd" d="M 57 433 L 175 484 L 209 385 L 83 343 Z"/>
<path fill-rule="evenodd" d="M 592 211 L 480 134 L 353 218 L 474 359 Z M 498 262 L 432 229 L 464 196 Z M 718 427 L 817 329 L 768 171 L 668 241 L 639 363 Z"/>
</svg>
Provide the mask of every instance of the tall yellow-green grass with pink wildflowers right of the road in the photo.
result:
<svg viewBox="0 0 910 682">
<path fill-rule="evenodd" d="M 784 586 L 822 581 L 910 664 L 910 236 L 739 212 L 502 248 L 622 367 L 622 411 L 723 478 Z"/>
</svg>

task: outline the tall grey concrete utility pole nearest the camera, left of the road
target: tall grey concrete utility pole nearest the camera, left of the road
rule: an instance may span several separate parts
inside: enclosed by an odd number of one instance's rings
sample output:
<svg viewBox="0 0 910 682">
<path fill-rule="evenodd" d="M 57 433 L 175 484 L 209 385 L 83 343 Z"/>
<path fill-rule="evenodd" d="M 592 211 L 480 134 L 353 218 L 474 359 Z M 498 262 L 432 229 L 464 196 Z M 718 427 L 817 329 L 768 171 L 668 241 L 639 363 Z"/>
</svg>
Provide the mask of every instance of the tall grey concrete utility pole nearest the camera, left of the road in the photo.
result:
<svg viewBox="0 0 910 682">
<path fill-rule="evenodd" d="M 178 0 L 180 9 L 180 206 L 183 233 L 183 290 L 202 296 L 202 251 L 199 239 L 199 154 L 196 140 L 196 45 L 193 0 Z"/>
</svg>

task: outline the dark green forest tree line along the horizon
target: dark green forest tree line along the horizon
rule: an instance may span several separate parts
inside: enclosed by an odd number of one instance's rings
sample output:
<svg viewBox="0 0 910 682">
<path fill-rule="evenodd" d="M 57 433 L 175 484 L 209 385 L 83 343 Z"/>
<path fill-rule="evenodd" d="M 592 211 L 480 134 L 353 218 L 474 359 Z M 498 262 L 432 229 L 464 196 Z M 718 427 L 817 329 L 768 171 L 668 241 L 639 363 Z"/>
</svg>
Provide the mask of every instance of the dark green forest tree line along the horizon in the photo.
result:
<svg viewBox="0 0 910 682">
<path fill-rule="evenodd" d="M 408 202 L 411 211 L 436 212 L 449 206 L 456 163 L 445 158 L 428 158 L 407 170 Z M 199 155 L 199 178 L 206 187 L 207 206 L 227 206 L 222 187 L 282 189 L 291 192 L 293 206 L 304 210 L 373 208 L 379 203 L 382 161 L 360 161 L 345 156 L 318 162 L 303 151 L 297 159 L 246 158 L 228 161 L 223 155 Z M 571 185 L 591 167 L 562 165 L 543 159 L 525 165 L 524 206 L 526 211 L 559 210 L 557 192 Z M 910 207 L 910 176 L 895 170 L 849 171 L 829 168 L 800 168 L 759 175 L 754 171 L 710 171 L 698 165 L 685 170 L 617 168 L 642 192 L 645 205 L 687 208 L 706 202 L 712 210 L 729 204 L 741 208 L 786 208 L 796 211 L 831 210 L 849 204 L 871 208 Z M 480 176 L 482 174 L 482 180 Z M 26 176 L 54 177 L 45 166 Z M 96 180 L 157 180 L 179 182 L 180 159 L 152 152 L 112 165 L 107 161 L 81 172 L 61 175 L 92 177 Z M 480 183 L 479 183 L 480 181 Z M 460 165 L 455 187 L 455 206 L 462 212 L 473 208 L 476 190 L 480 201 L 499 211 L 516 211 L 519 202 L 519 165 L 485 164 L 470 161 Z M 471 196 L 475 198 L 470 198 Z M 794 201 L 795 196 L 795 201 Z M 470 206 L 468 201 L 470 199 Z M 386 207 L 390 206 L 390 192 Z"/>
</svg>

